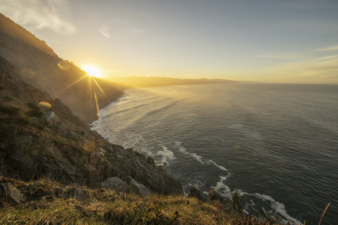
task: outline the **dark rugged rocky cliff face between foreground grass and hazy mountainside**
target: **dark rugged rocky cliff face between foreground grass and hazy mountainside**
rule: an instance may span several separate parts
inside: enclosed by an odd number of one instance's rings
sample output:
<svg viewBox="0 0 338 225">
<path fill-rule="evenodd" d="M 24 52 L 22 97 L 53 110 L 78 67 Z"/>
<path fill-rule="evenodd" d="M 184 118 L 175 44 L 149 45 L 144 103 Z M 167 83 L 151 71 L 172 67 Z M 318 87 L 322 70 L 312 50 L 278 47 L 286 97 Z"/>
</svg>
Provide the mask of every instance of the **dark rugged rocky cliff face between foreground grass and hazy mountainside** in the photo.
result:
<svg viewBox="0 0 338 225">
<path fill-rule="evenodd" d="M 21 80 L 0 58 L 1 174 L 21 180 L 43 176 L 98 187 L 108 177 L 134 178 L 156 193 L 183 193 L 176 178 L 133 150 L 89 130 L 60 99 Z"/>
</svg>

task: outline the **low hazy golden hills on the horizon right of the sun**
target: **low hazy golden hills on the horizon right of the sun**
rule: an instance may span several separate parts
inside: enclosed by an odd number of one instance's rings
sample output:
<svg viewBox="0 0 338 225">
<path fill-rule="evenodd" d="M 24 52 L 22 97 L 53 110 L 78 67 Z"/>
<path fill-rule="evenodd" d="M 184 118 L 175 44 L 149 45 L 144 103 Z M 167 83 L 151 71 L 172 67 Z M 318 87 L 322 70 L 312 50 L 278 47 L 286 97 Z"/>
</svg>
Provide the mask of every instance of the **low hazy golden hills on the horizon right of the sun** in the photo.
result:
<svg viewBox="0 0 338 225">
<path fill-rule="evenodd" d="M 169 86 L 185 84 L 222 84 L 236 82 L 224 79 L 181 79 L 181 78 L 145 78 L 145 77 L 128 77 L 128 78 L 111 78 L 115 83 L 131 87 L 151 87 L 151 86 Z"/>
</svg>

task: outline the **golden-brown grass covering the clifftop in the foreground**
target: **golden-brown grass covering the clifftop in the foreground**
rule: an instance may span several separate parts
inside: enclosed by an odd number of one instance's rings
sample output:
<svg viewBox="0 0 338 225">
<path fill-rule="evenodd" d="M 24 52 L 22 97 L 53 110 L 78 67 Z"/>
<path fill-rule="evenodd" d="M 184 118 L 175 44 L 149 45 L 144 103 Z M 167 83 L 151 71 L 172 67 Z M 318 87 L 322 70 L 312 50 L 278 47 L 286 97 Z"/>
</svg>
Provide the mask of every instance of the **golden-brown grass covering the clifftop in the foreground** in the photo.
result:
<svg viewBox="0 0 338 225">
<path fill-rule="evenodd" d="M 81 187 L 87 198 L 74 197 L 75 187 L 56 181 L 11 182 L 27 201 L 2 199 L 0 224 L 268 224 L 256 217 L 226 211 L 218 201 L 200 202 L 186 196 L 151 195 L 145 198 L 108 189 Z M 62 197 L 56 197 L 57 190 Z"/>
</svg>

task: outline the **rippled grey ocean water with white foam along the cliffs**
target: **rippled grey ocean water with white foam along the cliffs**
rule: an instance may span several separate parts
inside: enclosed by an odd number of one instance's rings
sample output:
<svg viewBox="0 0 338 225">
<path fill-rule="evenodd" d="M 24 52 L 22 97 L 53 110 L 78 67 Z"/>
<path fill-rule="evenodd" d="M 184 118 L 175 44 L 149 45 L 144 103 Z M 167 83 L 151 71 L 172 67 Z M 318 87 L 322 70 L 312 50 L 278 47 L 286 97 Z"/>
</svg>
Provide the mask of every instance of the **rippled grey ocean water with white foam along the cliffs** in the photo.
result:
<svg viewBox="0 0 338 225">
<path fill-rule="evenodd" d="M 206 84 L 135 88 L 93 123 L 195 185 L 284 220 L 338 224 L 338 85 Z"/>
</svg>

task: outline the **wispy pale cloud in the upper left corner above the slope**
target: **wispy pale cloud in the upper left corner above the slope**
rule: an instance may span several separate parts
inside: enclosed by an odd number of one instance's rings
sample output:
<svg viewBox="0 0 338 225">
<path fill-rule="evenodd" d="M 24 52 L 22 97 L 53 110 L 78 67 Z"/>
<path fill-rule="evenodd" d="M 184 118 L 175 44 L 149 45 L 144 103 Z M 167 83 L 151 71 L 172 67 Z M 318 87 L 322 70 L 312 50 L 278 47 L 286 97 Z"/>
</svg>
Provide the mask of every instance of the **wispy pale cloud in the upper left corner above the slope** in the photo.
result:
<svg viewBox="0 0 338 225">
<path fill-rule="evenodd" d="M 28 29 L 52 29 L 58 34 L 76 32 L 67 21 L 67 0 L 1 0 L 0 12 Z"/>
</svg>

